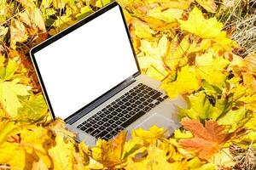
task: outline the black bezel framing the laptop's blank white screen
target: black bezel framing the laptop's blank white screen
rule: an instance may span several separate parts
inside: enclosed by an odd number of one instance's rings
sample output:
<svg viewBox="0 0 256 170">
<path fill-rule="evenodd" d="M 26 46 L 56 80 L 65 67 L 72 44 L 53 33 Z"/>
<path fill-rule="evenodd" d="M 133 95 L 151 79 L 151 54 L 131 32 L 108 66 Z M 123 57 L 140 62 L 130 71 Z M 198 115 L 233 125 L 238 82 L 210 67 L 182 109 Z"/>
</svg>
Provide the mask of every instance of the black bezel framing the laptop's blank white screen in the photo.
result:
<svg viewBox="0 0 256 170">
<path fill-rule="evenodd" d="M 39 71 L 39 68 L 38 68 L 38 63 L 37 63 L 37 60 L 35 59 L 35 56 L 34 54 L 37 53 L 39 50 L 47 47 L 49 44 L 61 39 L 61 37 L 64 37 L 66 36 L 67 34 L 69 34 L 70 32 L 78 29 L 80 26 L 84 26 L 84 24 L 90 22 L 90 20 L 94 20 L 96 17 L 106 13 L 108 10 L 116 7 L 116 6 L 119 6 L 118 3 L 116 3 L 115 1 L 113 3 L 109 3 L 107 6 L 97 10 L 95 13 L 93 14 L 90 14 L 89 16 L 85 17 L 84 19 L 82 20 L 79 20 L 76 24 L 74 24 L 73 26 L 69 26 L 67 27 L 67 29 L 59 32 L 58 34 L 56 34 L 55 36 L 53 37 L 50 37 L 49 39 L 47 39 L 46 41 L 38 44 L 38 46 L 32 48 L 30 50 L 30 56 L 31 56 L 31 59 L 32 59 L 32 64 L 34 65 L 34 68 L 35 68 L 35 71 L 38 75 L 38 80 L 40 82 L 40 85 L 41 85 L 41 88 L 42 88 L 42 91 L 43 91 L 43 94 L 44 94 L 44 99 L 46 100 L 46 103 L 49 107 L 49 112 L 50 112 L 50 115 L 52 117 L 53 120 L 55 120 L 55 113 L 54 113 L 54 110 L 53 110 L 53 107 L 50 103 L 50 99 L 49 99 L 49 95 L 47 94 L 47 90 L 44 86 L 44 81 L 43 81 L 43 78 L 40 74 L 40 71 Z M 136 53 L 135 53 L 135 50 L 133 48 L 133 45 L 132 45 L 132 41 L 131 41 L 131 35 L 130 35 L 130 32 L 129 32 L 129 29 L 128 29 L 128 26 L 126 25 L 126 22 L 125 22 L 125 14 L 122 10 L 122 8 L 119 6 L 119 10 L 120 10 L 120 13 L 122 15 L 122 19 L 124 21 L 124 25 L 125 25 L 125 31 L 126 31 L 126 34 L 128 36 L 128 39 L 129 39 L 129 42 L 130 42 L 130 45 L 131 45 L 131 50 L 132 50 L 132 54 L 133 54 L 133 57 L 135 59 L 135 62 L 136 62 L 136 65 L 137 65 L 137 72 L 134 73 L 133 75 L 131 75 L 131 77 L 137 77 L 141 74 L 141 69 L 140 69 L 140 66 L 138 64 L 138 60 L 137 60 L 137 56 L 136 56 Z M 119 87 L 121 84 L 125 83 L 125 82 L 128 82 L 131 80 L 131 77 L 127 77 L 127 79 L 125 79 L 123 82 L 120 82 L 118 85 L 116 85 L 115 87 L 111 88 L 108 90 L 108 92 L 106 92 L 105 94 L 102 94 L 101 96 L 99 96 L 98 98 L 94 99 L 93 101 L 91 101 L 88 105 L 84 105 L 84 107 L 82 107 L 81 109 L 79 109 L 79 111 L 75 111 L 74 113 L 72 113 L 70 116 L 68 116 L 67 118 L 65 118 L 65 122 L 67 122 L 67 120 L 71 119 L 73 116 L 77 115 L 79 112 L 81 111 L 84 111 L 87 107 L 90 107 L 91 105 L 94 105 L 97 101 L 99 101 L 100 99 L 103 99 L 105 96 L 109 96 L 109 98 L 111 98 L 113 96 L 112 95 L 109 95 L 111 94 L 111 92 L 113 91 L 113 89 Z M 109 99 L 108 98 L 108 99 Z M 106 100 L 108 100 L 106 99 Z M 95 107 L 96 108 L 96 107 Z M 86 114 L 85 114 L 86 115 Z"/>
</svg>

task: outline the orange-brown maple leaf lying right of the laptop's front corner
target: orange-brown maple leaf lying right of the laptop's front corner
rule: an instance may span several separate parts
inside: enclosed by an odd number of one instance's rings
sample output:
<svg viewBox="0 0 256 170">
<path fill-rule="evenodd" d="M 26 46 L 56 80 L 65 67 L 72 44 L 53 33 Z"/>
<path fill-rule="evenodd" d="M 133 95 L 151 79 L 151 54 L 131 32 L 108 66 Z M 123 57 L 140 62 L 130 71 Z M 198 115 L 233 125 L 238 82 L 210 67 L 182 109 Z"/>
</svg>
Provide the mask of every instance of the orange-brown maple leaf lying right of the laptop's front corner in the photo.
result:
<svg viewBox="0 0 256 170">
<path fill-rule="evenodd" d="M 184 149 L 194 150 L 201 159 L 211 158 L 221 149 L 221 144 L 230 137 L 224 132 L 224 126 L 212 120 L 207 121 L 205 127 L 201 122 L 189 118 L 184 118 L 181 123 L 186 130 L 194 134 L 194 138 L 181 139 L 179 144 Z"/>
</svg>

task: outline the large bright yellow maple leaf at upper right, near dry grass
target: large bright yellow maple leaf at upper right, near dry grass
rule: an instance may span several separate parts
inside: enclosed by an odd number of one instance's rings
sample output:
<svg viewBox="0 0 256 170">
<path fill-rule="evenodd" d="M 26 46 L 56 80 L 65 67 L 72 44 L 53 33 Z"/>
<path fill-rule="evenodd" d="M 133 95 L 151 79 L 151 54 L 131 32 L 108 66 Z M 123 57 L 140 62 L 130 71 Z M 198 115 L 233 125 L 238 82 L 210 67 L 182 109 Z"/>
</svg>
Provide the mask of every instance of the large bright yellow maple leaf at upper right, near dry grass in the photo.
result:
<svg viewBox="0 0 256 170">
<path fill-rule="evenodd" d="M 198 37 L 208 38 L 224 48 L 230 48 L 234 44 L 225 31 L 222 31 L 222 23 L 216 18 L 205 19 L 199 8 L 193 8 L 188 20 L 178 20 L 183 31 L 189 31 Z"/>
</svg>

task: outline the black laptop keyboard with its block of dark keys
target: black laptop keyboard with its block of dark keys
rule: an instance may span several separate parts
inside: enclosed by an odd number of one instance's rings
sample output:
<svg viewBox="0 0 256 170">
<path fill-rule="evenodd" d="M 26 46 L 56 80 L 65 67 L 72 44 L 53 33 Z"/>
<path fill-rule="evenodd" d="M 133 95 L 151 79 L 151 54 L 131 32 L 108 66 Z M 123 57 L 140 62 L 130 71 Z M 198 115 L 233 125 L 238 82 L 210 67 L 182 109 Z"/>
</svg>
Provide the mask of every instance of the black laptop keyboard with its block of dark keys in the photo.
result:
<svg viewBox="0 0 256 170">
<path fill-rule="evenodd" d="M 140 83 L 114 100 L 95 115 L 79 124 L 78 128 L 101 139 L 112 139 L 139 117 L 159 105 L 168 96 Z"/>
</svg>

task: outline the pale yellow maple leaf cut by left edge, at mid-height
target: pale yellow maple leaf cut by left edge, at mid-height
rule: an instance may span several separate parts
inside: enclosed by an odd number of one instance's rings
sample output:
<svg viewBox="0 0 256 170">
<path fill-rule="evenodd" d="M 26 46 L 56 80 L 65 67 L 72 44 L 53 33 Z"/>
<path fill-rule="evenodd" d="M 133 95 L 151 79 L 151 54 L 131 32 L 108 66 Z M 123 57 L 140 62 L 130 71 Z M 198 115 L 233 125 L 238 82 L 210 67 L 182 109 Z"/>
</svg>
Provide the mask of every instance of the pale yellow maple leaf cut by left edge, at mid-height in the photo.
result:
<svg viewBox="0 0 256 170">
<path fill-rule="evenodd" d="M 29 95 L 28 86 L 18 83 L 20 80 L 15 79 L 12 82 L 3 82 L 0 80 L 0 104 L 7 111 L 9 116 L 15 117 L 18 113 L 18 108 L 22 107 L 18 96 Z"/>
</svg>

